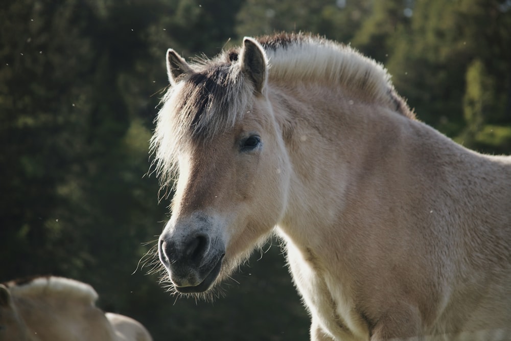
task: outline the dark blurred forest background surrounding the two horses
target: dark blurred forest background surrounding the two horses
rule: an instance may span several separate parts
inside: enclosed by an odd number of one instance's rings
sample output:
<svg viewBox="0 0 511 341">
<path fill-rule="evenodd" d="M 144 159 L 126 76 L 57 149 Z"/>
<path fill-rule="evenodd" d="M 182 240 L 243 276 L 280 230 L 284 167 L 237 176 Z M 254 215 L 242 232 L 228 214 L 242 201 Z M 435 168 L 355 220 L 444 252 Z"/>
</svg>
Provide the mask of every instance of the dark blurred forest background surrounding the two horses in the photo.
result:
<svg viewBox="0 0 511 341">
<path fill-rule="evenodd" d="M 0 282 L 84 281 L 155 340 L 307 340 L 278 241 L 213 303 L 172 297 L 144 257 L 169 217 L 145 175 L 167 48 L 213 56 L 283 30 L 351 44 L 420 120 L 511 153 L 511 0 L 3 0 Z"/>
</svg>

